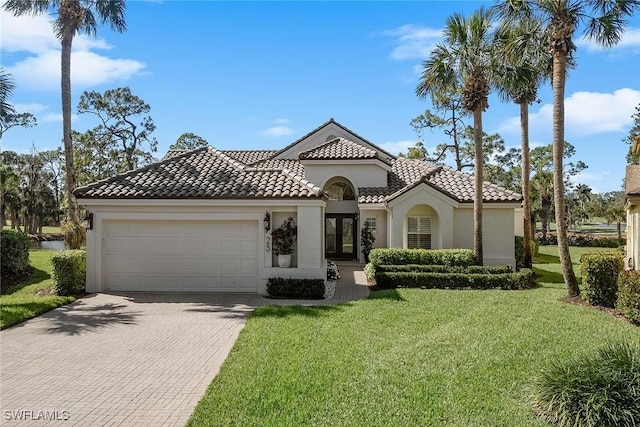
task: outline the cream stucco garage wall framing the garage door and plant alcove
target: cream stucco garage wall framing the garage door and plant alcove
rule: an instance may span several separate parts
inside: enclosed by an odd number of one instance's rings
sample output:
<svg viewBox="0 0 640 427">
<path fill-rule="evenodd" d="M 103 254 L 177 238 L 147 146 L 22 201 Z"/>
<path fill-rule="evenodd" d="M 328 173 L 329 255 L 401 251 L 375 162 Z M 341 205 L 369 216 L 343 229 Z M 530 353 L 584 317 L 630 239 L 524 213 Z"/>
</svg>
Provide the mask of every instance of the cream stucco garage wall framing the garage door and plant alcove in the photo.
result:
<svg viewBox="0 0 640 427">
<path fill-rule="evenodd" d="M 103 232 L 105 221 L 224 221 L 247 220 L 258 223 L 256 239 L 258 241 L 258 292 L 265 293 L 269 277 L 324 278 L 326 264 L 324 260 L 324 205 L 321 200 L 300 200 L 298 205 L 292 201 L 269 201 L 261 205 L 260 201 L 242 200 L 91 200 L 79 199 L 93 213 L 94 228 L 87 233 L 87 291 L 105 290 L 103 280 Z M 298 224 L 298 241 L 293 257 L 294 268 L 278 268 L 273 262 L 269 248 L 270 234 L 264 230 L 265 212 L 271 213 L 272 229 L 293 216 Z M 273 267 L 275 265 L 275 267 Z"/>
</svg>

